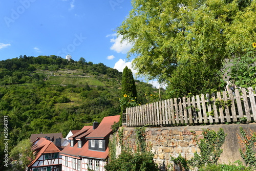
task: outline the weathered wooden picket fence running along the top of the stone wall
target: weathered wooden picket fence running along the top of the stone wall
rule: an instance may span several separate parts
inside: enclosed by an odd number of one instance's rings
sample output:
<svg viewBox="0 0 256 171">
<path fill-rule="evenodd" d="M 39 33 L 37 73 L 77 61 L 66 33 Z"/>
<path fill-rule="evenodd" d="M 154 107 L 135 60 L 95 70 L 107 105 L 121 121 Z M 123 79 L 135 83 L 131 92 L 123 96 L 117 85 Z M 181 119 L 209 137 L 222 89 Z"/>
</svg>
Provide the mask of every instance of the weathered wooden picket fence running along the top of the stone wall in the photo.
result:
<svg viewBox="0 0 256 171">
<path fill-rule="evenodd" d="M 139 105 L 126 109 L 123 124 L 143 126 L 256 121 L 255 96 L 250 87 L 217 92 L 216 95 L 202 94 Z"/>
</svg>

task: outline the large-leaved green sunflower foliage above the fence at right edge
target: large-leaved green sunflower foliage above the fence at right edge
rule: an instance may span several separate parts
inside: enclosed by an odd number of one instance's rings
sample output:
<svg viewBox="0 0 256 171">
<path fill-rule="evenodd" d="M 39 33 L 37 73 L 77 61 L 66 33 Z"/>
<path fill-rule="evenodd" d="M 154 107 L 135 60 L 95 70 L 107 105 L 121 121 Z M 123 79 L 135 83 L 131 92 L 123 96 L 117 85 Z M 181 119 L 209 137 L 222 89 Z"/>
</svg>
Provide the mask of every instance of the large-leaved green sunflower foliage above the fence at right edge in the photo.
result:
<svg viewBox="0 0 256 171">
<path fill-rule="evenodd" d="M 230 61 L 229 80 L 241 88 L 256 86 L 256 47 L 244 49 L 243 55 Z"/>
</svg>

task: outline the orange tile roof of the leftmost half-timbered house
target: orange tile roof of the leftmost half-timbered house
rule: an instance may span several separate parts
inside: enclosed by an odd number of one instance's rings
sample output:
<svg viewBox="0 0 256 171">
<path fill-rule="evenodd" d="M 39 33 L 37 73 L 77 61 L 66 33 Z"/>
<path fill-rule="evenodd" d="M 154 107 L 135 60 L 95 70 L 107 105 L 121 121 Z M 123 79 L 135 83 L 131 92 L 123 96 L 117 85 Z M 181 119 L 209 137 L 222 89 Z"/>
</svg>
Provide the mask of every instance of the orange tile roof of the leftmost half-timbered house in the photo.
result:
<svg viewBox="0 0 256 171">
<path fill-rule="evenodd" d="M 32 146 L 31 148 L 34 151 L 35 159 L 28 165 L 30 167 L 34 162 L 44 153 L 59 153 L 59 148 L 52 142 L 45 138 L 40 138 L 40 140 Z"/>
</svg>

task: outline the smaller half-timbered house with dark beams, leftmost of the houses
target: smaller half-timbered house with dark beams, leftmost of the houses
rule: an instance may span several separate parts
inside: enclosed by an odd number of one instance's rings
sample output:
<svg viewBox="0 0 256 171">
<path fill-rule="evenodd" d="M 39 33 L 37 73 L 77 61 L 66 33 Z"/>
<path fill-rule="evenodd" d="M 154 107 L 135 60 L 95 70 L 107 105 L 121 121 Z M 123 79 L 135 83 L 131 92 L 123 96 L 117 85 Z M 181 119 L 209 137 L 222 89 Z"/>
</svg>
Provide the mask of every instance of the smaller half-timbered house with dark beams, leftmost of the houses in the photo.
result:
<svg viewBox="0 0 256 171">
<path fill-rule="evenodd" d="M 26 171 L 60 171 L 61 147 L 46 138 L 37 138 L 32 146 L 35 159 L 27 166 Z"/>
</svg>

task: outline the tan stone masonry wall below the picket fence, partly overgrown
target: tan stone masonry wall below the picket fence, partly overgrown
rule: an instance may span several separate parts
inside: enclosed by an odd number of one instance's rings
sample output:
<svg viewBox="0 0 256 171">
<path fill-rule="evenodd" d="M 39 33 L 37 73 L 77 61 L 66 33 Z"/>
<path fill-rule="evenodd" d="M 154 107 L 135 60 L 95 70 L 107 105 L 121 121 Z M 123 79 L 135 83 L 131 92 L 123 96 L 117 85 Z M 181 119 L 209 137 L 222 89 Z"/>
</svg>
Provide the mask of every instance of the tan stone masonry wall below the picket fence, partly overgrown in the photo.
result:
<svg viewBox="0 0 256 171">
<path fill-rule="evenodd" d="M 180 126 L 180 127 L 147 127 L 145 138 L 148 151 L 154 154 L 154 160 L 162 170 L 167 170 L 167 166 L 173 164 L 170 156 L 178 157 L 179 154 L 187 160 L 194 157 L 195 152 L 200 153 L 198 141 L 203 138 L 202 130 L 210 129 L 219 131 L 222 128 L 227 134 L 225 143 L 222 145 L 223 153 L 219 163 L 229 164 L 237 160 L 243 161 L 239 154 L 240 144 L 238 141 L 239 127 L 243 127 L 247 133 L 256 132 L 256 123 L 250 124 L 222 124 L 204 126 Z M 194 134 L 193 134 L 194 133 Z M 115 134 L 119 141 L 118 134 Z M 136 132 L 134 127 L 123 128 L 123 144 L 133 151 L 137 150 Z M 116 144 L 117 155 L 121 153 L 120 144 Z"/>
</svg>

